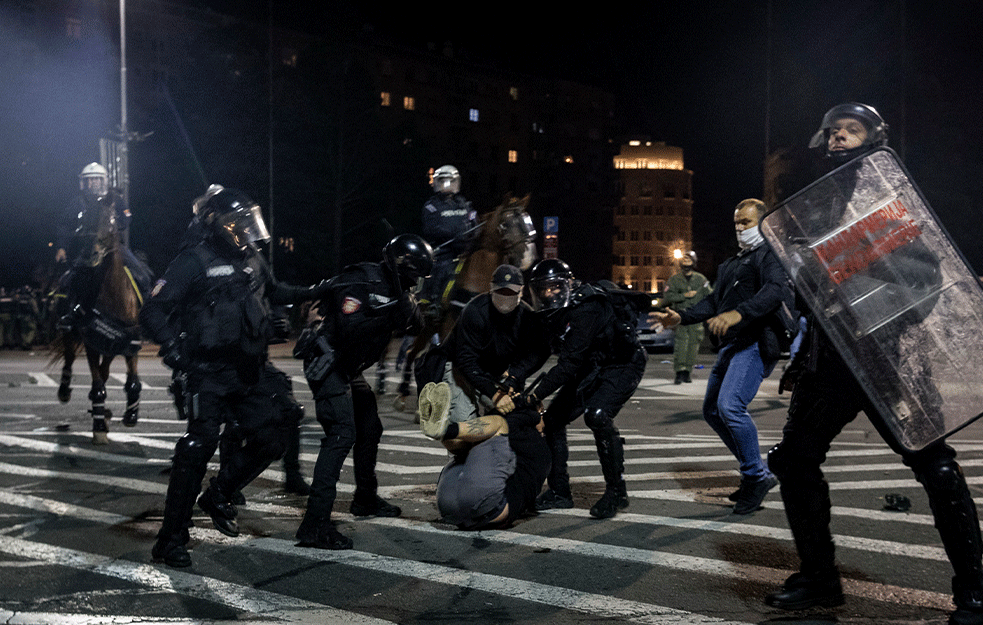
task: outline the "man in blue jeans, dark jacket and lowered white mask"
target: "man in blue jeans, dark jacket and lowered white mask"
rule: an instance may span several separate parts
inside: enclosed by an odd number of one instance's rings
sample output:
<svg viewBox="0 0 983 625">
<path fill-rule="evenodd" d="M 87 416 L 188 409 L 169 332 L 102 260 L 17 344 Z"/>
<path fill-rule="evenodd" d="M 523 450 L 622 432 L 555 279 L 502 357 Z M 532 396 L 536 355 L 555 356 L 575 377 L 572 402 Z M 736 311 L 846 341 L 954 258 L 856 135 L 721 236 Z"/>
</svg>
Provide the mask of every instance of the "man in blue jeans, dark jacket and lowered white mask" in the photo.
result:
<svg viewBox="0 0 983 625">
<path fill-rule="evenodd" d="M 741 485 L 730 495 L 735 514 L 760 508 L 778 484 L 761 459 L 758 429 L 747 410 L 782 351 L 784 332 L 778 315 L 783 306 L 791 311 L 795 302 L 791 282 L 758 230 L 764 212 L 761 200 L 737 205 L 734 228 L 741 251 L 717 269 L 717 284 L 709 296 L 679 313 L 653 313 L 667 327 L 706 321 L 720 337 L 703 418 L 740 463 Z"/>
</svg>

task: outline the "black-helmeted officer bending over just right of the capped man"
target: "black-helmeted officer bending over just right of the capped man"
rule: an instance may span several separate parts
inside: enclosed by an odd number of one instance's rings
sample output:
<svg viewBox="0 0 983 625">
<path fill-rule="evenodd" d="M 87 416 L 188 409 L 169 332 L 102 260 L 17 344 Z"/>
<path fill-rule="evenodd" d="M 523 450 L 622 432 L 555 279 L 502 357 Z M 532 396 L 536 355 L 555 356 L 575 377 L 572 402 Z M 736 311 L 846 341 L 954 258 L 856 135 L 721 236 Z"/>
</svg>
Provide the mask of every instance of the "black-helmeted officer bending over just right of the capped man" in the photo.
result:
<svg viewBox="0 0 983 625">
<path fill-rule="evenodd" d="M 575 282 L 562 260 L 538 262 L 529 285 L 534 308 L 545 315 L 558 359 L 530 389 L 527 401 L 536 404 L 559 389 L 543 415 L 553 465 L 549 489 L 539 496 L 536 507 L 573 507 L 566 427 L 583 413 L 584 423 L 594 433 L 605 482 L 604 495 L 590 514 L 600 519 L 613 517 L 628 507 L 624 439 L 614 417 L 641 382 L 648 355 L 634 328 L 620 331 L 610 299 L 593 285 Z"/>
</svg>

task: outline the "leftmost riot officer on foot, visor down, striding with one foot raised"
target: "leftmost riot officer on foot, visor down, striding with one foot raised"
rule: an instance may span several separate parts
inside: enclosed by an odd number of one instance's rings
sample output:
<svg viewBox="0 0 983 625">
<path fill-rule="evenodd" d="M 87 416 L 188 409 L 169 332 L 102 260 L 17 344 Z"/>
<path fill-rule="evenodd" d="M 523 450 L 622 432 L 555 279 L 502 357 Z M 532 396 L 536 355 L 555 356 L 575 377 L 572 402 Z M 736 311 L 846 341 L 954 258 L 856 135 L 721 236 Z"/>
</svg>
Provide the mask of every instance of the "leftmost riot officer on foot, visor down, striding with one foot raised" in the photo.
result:
<svg viewBox="0 0 983 625">
<path fill-rule="evenodd" d="M 199 213 L 204 239 L 171 262 L 140 312 L 140 321 L 161 346 L 164 363 L 187 375 L 187 433 L 178 440 L 164 503 L 164 520 L 152 555 L 169 566 L 191 565 L 185 547 L 195 498 L 220 429 L 237 428 L 245 445 L 225 459 L 198 505 L 216 529 L 238 535 L 234 492 L 283 454 L 284 423 L 269 392 L 259 384 L 272 336 L 270 304 L 316 299 L 324 285 L 277 282 L 256 244 L 268 241 L 259 206 L 243 193 L 223 189 Z"/>
</svg>

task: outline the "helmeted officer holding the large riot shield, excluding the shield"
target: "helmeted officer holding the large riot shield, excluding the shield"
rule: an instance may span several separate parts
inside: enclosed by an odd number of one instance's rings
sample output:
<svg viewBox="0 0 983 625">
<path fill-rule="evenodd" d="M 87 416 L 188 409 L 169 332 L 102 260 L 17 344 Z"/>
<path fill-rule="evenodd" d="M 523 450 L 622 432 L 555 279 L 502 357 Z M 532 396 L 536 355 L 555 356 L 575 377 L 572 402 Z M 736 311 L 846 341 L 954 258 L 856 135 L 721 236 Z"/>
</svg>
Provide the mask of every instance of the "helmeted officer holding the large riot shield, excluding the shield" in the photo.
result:
<svg viewBox="0 0 983 625">
<path fill-rule="evenodd" d="M 818 170 L 818 173 L 832 171 L 886 145 L 886 129 L 887 124 L 871 106 L 854 102 L 837 105 L 823 117 L 810 143 L 819 158 L 808 159 L 802 169 Z M 787 180 L 795 180 L 797 169 L 788 170 Z M 789 195 L 797 189 L 795 184 L 785 186 Z M 841 217 L 838 210 L 843 209 L 831 203 L 827 210 L 817 208 L 814 218 L 837 224 Z M 896 252 L 899 253 L 902 250 Z M 907 253 L 911 263 L 906 267 L 906 275 L 900 277 L 931 283 L 933 274 L 938 273 L 937 262 L 931 264 L 924 260 L 932 256 L 931 252 L 924 247 L 912 247 Z M 868 415 L 879 431 L 886 429 L 831 340 L 811 315 L 807 317 L 809 323 L 802 347 L 782 377 L 782 387 L 793 390 L 788 422 L 782 441 L 768 454 L 768 466 L 779 479 L 785 514 L 801 560 L 799 572 L 765 599 L 768 605 L 785 610 L 843 604 L 829 528 L 832 506 L 829 485 L 821 465 L 833 439 L 860 411 Z M 891 442 L 892 437 L 888 434 L 885 440 Z M 902 453 L 904 464 L 912 469 L 928 494 L 935 527 L 955 573 L 952 590 L 956 611 L 949 622 L 981 625 L 983 538 L 976 505 L 956 462 L 956 452 L 944 441 L 917 452 L 897 451 Z"/>
</svg>

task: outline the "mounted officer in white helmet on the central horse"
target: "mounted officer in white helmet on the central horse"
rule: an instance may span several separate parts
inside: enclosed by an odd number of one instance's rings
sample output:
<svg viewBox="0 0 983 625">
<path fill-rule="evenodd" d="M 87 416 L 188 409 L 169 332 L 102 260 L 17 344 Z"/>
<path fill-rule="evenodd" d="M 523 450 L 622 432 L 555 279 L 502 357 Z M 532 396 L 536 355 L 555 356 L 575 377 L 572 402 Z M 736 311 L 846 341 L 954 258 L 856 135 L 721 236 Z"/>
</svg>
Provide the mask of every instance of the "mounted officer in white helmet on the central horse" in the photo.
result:
<svg viewBox="0 0 983 625">
<path fill-rule="evenodd" d="M 461 174 L 453 165 L 433 173 L 434 194 L 423 205 L 423 238 L 434 249 L 434 268 L 421 303 L 439 304 L 441 289 L 450 279 L 456 258 L 465 254 L 478 225 L 471 202 L 461 195 Z"/>
</svg>

